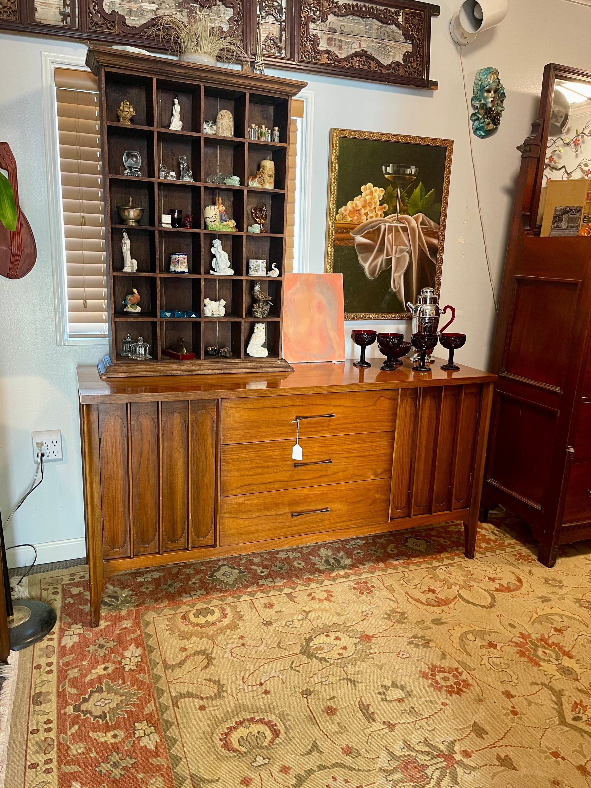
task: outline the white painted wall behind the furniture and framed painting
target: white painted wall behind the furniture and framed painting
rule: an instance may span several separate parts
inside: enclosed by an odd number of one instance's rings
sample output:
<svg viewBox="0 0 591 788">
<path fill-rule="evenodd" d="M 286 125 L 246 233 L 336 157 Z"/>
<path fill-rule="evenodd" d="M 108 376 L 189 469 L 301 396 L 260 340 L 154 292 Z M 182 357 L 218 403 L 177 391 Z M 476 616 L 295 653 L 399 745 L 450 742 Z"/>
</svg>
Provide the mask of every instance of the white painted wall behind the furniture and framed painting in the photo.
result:
<svg viewBox="0 0 591 788">
<path fill-rule="evenodd" d="M 439 82 L 437 91 L 302 76 L 314 90 L 310 270 L 322 271 L 324 265 L 330 128 L 453 139 L 441 301 L 457 307 L 454 327 L 468 336 L 460 362 L 486 368 L 495 311 L 474 191 L 458 48 L 448 32 L 452 10 L 458 6 L 459 0 L 444 0 L 441 16 L 433 20 L 431 77 Z M 474 139 L 497 292 L 519 172 L 515 146 L 530 132 L 536 117 L 544 65 L 555 61 L 591 70 L 587 33 L 591 9 L 565 0 L 510 0 L 510 6 L 504 23 L 481 34 L 464 52 L 470 94 L 474 72 L 487 65 L 500 69 L 507 92 L 499 131 L 490 139 Z M 64 462 L 46 466 L 43 485 L 6 531 L 9 545 L 45 544 L 41 560 L 84 553 L 76 365 L 94 363 L 102 355 L 99 347 L 56 345 L 52 304 L 41 52 L 84 54 L 84 50 L 84 45 L 76 43 L 0 35 L 0 139 L 10 143 L 17 158 L 21 205 L 38 249 L 37 264 L 28 277 L 0 279 L 0 508 L 6 519 L 32 478 L 31 431 L 61 429 Z M 375 346 L 370 349 L 376 354 Z M 348 355 L 354 355 L 351 345 Z M 65 543 L 52 545 L 55 541 Z"/>
</svg>

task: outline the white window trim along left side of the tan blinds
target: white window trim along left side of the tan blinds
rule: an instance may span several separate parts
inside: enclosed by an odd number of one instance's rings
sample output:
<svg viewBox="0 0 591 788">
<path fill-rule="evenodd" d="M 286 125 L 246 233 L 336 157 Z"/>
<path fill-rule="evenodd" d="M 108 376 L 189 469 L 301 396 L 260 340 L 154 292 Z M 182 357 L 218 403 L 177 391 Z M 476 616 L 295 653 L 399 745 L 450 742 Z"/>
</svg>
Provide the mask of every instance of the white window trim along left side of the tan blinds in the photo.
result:
<svg viewBox="0 0 591 788">
<path fill-rule="evenodd" d="M 61 173 L 58 143 L 58 113 L 56 112 L 55 69 L 87 71 L 84 58 L 69 54 L 41 53 L 41 90 L 43 93 L 43 126 L 45 128 L 45 165 L 47 173 L 47 203 L 50 220 L 51 269 L 54 279 L 55 338 L 58 345 L 76 347 L 109 344 L 107 337 L 68 336 L 68 288 L 65 277 L 65 234 L 61 203 Z"/>
</svg>

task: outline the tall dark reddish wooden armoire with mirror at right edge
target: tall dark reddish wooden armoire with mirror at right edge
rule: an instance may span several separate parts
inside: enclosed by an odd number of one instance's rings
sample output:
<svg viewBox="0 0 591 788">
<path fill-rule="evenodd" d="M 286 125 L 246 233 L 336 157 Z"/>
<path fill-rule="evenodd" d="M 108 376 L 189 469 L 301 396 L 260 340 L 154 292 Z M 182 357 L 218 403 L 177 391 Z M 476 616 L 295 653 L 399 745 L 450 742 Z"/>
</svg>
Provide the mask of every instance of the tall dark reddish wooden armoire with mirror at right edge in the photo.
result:
<svg viewBox="0 0 591 788">
<path fill-rule="evenodd" d="M 541 236 L 548 177 L 589 177 L 589 97 L 591 73 L 545 67 L 519 147 L 492 359 L 484 516 L 496 504 L 522 515 L 548 567 L 559 545 L 591 538 L 591 238 Z"/>
</svg>

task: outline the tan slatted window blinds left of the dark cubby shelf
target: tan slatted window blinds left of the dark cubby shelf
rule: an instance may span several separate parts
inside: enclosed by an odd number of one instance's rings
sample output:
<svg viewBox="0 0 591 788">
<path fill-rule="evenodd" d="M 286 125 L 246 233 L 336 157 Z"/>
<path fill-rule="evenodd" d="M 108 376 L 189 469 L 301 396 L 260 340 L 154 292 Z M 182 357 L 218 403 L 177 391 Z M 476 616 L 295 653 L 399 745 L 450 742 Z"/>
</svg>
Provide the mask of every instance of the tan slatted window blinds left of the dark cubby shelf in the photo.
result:
<svg viewBox="0 0 591 788">
<path fill-rule="evenodd" d="M 96 77 L 55 69 L 67 331 L 70 339 L 108 335 L 105 220 Z"/>
</svg>

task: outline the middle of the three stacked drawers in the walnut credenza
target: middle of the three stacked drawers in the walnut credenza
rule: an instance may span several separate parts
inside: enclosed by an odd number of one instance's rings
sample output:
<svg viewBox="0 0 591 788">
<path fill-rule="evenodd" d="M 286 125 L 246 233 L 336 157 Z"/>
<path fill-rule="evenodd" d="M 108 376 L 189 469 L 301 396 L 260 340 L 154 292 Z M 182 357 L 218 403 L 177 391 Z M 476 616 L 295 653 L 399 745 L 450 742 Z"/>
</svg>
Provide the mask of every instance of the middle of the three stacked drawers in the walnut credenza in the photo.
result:
<svg viewBox="0 0 591 788">
<path fill-rule="evenodd" d="M 300 437 L 301 460 L 292 459 L 293 444 L 292 439 L 223 446 L 220 494 L 248 495 L 392 476 L 394 433 Z"/>
</svg>

